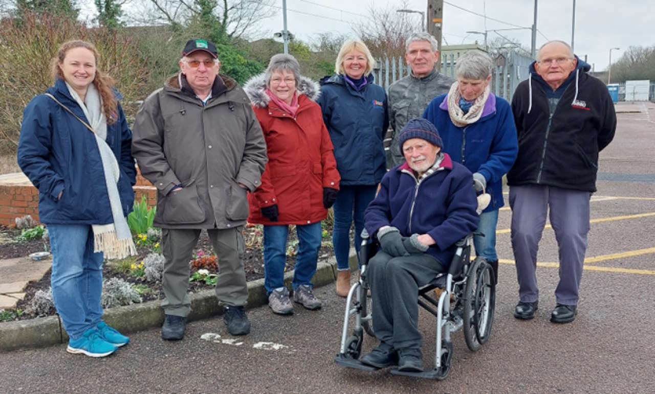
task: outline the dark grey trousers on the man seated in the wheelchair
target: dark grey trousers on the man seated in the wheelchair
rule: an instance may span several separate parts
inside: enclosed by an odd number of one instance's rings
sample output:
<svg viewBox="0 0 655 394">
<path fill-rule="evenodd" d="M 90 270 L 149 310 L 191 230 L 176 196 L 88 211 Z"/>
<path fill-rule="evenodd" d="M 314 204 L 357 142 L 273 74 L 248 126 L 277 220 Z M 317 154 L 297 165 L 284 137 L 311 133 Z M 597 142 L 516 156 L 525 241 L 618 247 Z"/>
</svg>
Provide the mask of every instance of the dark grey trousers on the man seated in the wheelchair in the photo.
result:
<svg viewBox="0 0 655 394">
<path fill-rule="evenodd" d="M 391 257 L 379 251 L 368 263 L 375 336 L 394 349 L 421 349 L 419 287 L 445 269 L 423 254 Z"/>
</svg>

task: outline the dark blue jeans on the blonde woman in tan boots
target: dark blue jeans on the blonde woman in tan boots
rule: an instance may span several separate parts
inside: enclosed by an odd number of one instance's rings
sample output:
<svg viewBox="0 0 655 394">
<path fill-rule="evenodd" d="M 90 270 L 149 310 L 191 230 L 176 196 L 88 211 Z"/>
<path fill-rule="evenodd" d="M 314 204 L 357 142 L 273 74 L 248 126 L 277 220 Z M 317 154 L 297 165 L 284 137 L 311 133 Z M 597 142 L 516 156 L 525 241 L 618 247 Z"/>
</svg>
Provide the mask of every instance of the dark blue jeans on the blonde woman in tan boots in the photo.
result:
<svg viewBox="0 0 655 394">
<path fill-rule="evenodd" d="M 341 186 L 334 202 L 334 226 L 332 245 L 337 257 L 337 270 L 348 270 L 350 253 L 350 224 L 355 220 L 355 250 L 359 258 L 364 230 L 364 211 L 375 198 L 377 185 Z M 354 211 L 354 215 L 353 215 Z M 360 263 L 361 264 L 361 263 Z"/>
</svg>

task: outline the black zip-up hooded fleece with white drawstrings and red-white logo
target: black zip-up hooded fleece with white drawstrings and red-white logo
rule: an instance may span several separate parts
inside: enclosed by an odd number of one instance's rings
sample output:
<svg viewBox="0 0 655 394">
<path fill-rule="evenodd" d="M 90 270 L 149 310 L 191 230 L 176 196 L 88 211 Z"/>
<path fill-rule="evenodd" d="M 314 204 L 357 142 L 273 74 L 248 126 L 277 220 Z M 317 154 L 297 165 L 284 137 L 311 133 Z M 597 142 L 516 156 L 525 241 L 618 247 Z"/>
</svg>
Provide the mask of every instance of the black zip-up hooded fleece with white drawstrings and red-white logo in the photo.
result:
<svg viewBox="0 0 655 394">
<path fill-rule="evenodd" d="M 516 88 L 512 112 L 519 153 L 507 174 L 508 185 L 547 185 L 596 191 L 598 154 L 614 138 L 616 113 L 603 82 L 588 75 L 578 59 L 553 113 L 548 84 L 530 66 L 531 75 Z"/>
</svg>

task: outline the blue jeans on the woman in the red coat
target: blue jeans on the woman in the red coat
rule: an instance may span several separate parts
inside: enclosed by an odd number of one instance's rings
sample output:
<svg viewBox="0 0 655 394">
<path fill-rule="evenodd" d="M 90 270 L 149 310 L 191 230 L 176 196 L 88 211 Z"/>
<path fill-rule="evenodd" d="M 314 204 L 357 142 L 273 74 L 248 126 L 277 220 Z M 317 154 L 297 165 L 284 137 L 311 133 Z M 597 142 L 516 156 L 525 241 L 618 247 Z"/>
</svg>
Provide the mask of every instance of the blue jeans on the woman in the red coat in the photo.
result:
<svg viewBox="0 0 655 394">
<path fill-rule="evenodd" d="M 312 286 L 316 272 L 318 249 L 321 247 L 321 223 L 297 224 L 298 253 L 295 256 L 291 287 Z M 284 265 L 289 226 L 264 226 L 264 287 L 270 295 L 274 289 L 284 286 Z"/>
</svg>

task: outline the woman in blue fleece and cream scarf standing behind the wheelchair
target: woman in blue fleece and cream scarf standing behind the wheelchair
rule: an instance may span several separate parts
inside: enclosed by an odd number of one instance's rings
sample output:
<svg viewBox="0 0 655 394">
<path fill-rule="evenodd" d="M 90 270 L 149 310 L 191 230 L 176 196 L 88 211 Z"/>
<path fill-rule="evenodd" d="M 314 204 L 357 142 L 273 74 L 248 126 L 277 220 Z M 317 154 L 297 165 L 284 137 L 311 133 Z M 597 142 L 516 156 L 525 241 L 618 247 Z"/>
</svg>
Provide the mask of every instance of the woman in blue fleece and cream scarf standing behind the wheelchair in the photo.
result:
<svg viewBox="0 0 655 394">
<path fill-rule="evenodd" d="M 491 196 L 477 228 L 484 236 L 474 236 L 474 245 L 498 281 L 496 223 L 503 206 L 502 175 L 514 164 L 519 147 L 510 104 L 490 92 L 492 66 L 486 54 L 464 54 L 457 60 L 457 81 L 450 92 L 434 98 L 423 117 L 439 130 L 443 152 L 473 173 L 478 192 Z"/>
</svg>

